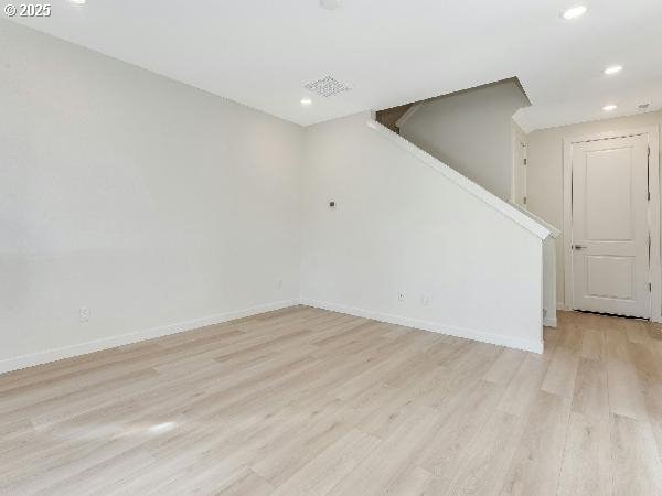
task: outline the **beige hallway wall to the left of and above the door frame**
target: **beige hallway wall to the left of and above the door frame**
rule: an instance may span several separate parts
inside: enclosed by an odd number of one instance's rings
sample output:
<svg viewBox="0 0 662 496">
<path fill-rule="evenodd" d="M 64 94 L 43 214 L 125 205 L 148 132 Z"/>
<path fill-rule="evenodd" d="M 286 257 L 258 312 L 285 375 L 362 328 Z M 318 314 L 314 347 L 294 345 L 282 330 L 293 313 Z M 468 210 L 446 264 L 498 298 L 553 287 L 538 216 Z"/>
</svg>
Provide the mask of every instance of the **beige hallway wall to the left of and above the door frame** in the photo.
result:
<svg viewBox="0 0 662 496">
<path fill-rule="evenodd" d="M 647 126 L 662 128 L 662 111 L 534 131 L 528 134 L 528 208 L 563 230 L 563 140 Z M 563 236 L 563 235 L 562 235 Z M 563 237 L 556 240 L 556 294 L 564 301 Z"/>
</svg>

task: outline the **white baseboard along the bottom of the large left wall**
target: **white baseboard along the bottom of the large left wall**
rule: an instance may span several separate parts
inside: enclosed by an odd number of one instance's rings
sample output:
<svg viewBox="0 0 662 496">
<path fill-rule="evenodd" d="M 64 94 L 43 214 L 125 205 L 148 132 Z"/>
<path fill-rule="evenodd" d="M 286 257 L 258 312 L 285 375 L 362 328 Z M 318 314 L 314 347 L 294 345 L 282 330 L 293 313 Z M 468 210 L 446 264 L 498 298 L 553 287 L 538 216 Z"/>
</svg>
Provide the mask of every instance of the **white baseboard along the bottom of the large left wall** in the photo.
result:
<svg viewBox="0 0 662 496">
<path fill-rule="evenodd" d="M 139 341 L 168 336 L 170 334 L 177 334 L 184 331 L 192 331 L 194 328 L 200 328 L 207 325 L 221 324 L 223 322 L 234 321 L 235 319 L 243 319 L 246 316 L 271 312 L 274 310 L 280 310 L 298 304 L 299 300 L 286 300 L 267 303 L 248 309 L 207 315 L 205 317 L 193 319 L 190 321 L 177 322 L 174 324 L 162 325 L 159 327 L 151 327 L 119 336 L 88 341 L 86 343 L 78 343 L 13 358 L 6 358 L 0 360 L 0 374 L 18 370 L 20 368 L 32 367 L 34 365 L 47 364 L 50 362 L 56 362 L 63 358 L 71 358 L 73 356 L 86 355 L 88 353 L 99 352 L 102 349 L 115 348 L 117 346 L 124 346 L 127 344 L 137 343 Z"/>
</svg>

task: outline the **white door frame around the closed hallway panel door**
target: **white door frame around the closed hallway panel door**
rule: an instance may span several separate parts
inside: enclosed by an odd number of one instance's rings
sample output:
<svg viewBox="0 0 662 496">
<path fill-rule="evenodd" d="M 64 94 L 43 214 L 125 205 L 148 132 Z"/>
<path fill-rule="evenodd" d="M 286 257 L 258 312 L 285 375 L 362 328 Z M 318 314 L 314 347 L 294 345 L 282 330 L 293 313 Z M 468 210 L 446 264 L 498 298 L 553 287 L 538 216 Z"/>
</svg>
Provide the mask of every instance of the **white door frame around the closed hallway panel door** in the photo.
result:
<svg viewBox="0 0 662 496">
<path fill-rule="evenodd" d="M 651 235 L 651 260 L 649 278 L 651 282 L 651 321 L 662 323 L 662 270 L 660 254 L 660 131 L 658 126 L 647 126 L 620 131 L 584 134 L 563 140 L 563 258 L 564 258 L 564 304 L 573 309 L 573 145 L 587 141 L 601 141 L 611 138 L 628 138 L 648 134 L 649 188 L 651 201 L 648 209 L 649 233 Z"/>
</svg>

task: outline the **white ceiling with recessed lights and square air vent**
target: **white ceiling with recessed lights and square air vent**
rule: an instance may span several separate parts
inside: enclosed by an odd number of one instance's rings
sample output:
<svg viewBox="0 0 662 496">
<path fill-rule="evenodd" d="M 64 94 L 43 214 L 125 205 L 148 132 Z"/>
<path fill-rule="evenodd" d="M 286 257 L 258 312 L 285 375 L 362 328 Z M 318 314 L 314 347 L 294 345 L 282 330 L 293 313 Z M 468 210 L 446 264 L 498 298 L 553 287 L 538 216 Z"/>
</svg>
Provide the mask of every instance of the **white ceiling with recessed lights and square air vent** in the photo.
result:
<svg viewBox="0 0 662 496">
<path fill-rule="evenodd" d="M 586 0 L 560 19 L 580 2 L 52 0 L 50 18 L 13 20 L 300 125 L 512 76 L 533 104 L 526 130 L 662 107 L 662 1 Z M 605 76 L 610 64 L 624 69 Z M 303 89 L 328 74 L 353 89 Z"/>
</svg>

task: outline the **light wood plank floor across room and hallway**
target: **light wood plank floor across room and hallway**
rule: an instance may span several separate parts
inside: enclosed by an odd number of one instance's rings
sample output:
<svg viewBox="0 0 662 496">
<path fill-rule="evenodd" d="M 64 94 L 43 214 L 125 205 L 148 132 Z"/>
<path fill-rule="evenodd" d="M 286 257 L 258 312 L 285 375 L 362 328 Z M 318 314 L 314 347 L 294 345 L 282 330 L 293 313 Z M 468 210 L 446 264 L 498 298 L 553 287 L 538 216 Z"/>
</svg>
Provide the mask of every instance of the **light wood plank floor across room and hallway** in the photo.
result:
<svg viewBox="0 0 662 496">
<path fill-rule="evenodd" d="M 297 306 L 0 376 L 0 494 L 662 494 L 662 332 Z"/>
</svg>

